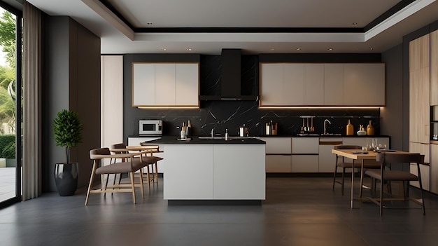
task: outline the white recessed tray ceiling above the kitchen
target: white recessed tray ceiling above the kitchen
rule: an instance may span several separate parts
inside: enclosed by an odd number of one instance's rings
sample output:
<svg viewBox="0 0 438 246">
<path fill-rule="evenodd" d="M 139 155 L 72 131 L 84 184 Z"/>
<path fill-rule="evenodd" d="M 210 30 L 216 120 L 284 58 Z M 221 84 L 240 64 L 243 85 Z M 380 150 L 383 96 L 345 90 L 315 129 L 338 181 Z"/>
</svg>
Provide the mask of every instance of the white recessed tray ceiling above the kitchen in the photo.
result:
<svg viewBox="0 0 438 246">
<path fill-rule="evenodd" d="M 48 15 L 69 15 L 90 29 L 101 37 L 103 54 L 219 55 L 222 48 L 241 48 L 244 54 L 382 53 L 402 43 L 404 35 L 438 20 L 436 0 L 416 0 L 367 32 L 362 28 L 400 1 L 107 0 L 132 27 L 148 29 L 148 32 L 140 33 L 121 22 L 99 0 L 27 1 Z M 327 28 L 328 32 L 297 29 L 274 33 L 241 32 L 241 29 L 233 33 L 153 32 L 154 28 L 178 27 Z M 358 32 L 339 32 L 339 29 L 347 28 L 358 29 Z M 329 48 L 332 50 L 327 50 Z"/>
</svg>

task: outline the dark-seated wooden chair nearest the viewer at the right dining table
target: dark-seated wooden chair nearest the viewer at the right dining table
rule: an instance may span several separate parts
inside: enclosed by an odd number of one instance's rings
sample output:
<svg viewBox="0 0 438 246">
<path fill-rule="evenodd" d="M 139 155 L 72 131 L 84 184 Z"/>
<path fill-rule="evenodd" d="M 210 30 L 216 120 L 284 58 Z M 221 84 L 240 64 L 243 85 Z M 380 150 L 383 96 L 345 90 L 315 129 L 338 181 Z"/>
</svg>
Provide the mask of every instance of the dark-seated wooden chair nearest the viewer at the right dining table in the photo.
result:
<svg viewBox="0 0 438 246">
<path fill-rule="evenodd" d="M 424 163 L 424 155 L 421 155 L 420 153 L 376 153 L 376 160 L 381 163 L 381 168 L 378 170 L 365 170 L 365 175 L 368 175 L 369 177 L 372 177 L 376 180 L 380 181 L 380 196 L 379 198 L 372 198 L 370 197 L 369 200 L 372 200 L 374 203 L 379 205 L 380 207 L 380 216 L 382 216 L 383 213 L 383 202 L 390 200 L 390 201 L 407 201 L 411 200 L 414 203 L 417 203 L 418 205 L 421 205 L 423 208 L 423 215 L 425 215 L 425 207 L 424 207 L 424 200 L 423 200 L 423 184 L 421 184 L 421 172 L 420 172 L 420 164 Z M 409 171 L 403 171 L 403 170 L 395 170 L 394 165 L 402 165 L 402 163 L 414 163 L 417 166 L 418 175 L 414 175 Z M 392 169 L 388 169 L 388 165 L 392 165 Z M 393 181 L 399 181 L 402 182 L 401 191 L 398 195 L 393 194 L 392 192 L 387 192 L 388 197 L 383 198 L 383 184 L 385 182 L 393 182 Z M 420 191 L 421 191 L 421 201 L 418 199 L 406 197 L 406 192 L 404 191 L 404 182 L 409 181 L 418 181 L 420 184 Z M 362 186 L 362 183 L 361 183 Z M 401 193 L 401 194 L 400 194 Z M 386 207 L 386 206 L 385 206 Z"/>
</svg>

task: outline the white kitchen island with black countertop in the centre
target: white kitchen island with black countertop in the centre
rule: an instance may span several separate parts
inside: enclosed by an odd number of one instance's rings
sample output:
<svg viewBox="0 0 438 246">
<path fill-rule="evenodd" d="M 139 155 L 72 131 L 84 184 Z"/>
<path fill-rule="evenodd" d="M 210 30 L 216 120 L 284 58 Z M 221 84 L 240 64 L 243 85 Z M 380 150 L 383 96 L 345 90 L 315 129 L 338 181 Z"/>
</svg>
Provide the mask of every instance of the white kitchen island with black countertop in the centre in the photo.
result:
<svg viewBox="0 0 438 246">
<path fill-rule="evenodd" d="M 265 143 L 260 139 L 162 137 L 166 145 L 164 199 L 169 205 L 243 203 L 265 199 Z"/>
</svg>

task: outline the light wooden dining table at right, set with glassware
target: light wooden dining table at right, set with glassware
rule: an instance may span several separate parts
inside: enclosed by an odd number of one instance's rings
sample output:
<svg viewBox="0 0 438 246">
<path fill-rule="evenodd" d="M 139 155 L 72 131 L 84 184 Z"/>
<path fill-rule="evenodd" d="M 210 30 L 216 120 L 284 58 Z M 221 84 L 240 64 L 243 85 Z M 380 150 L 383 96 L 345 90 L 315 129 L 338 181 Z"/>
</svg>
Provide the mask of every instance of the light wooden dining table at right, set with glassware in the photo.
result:
<svg viewBox="0 0 438 246">
<path fill-rule="evenodd" d="M 388 151 L 392 153 L 407 153 L 404 151 L 394 151 L 394 150 L 382 150 Z M 360 149 L 332 149 L 332 153 L 337 154 L 338 156 L 343 156 L 345 158 L 350 158 L 353 160 L 353 164 L 355 161 L 360 161 L 362 163 L 360 168 L 360 179 L 363 179 L 363 164 L 364 160 L 374 160 L 376 159 L 376 151 L 363 151 Z M 354 202 L 360 201 L 362 203 L 362 198 L 360 194 L 360 198 L 354 198 L 354 168 L 351 168 L 351 208 L 354 208 Z M 362 183 L 362 182 L 361 182 Z M 362 191 L 362 189 L 360 189 Z"/>
</svg>

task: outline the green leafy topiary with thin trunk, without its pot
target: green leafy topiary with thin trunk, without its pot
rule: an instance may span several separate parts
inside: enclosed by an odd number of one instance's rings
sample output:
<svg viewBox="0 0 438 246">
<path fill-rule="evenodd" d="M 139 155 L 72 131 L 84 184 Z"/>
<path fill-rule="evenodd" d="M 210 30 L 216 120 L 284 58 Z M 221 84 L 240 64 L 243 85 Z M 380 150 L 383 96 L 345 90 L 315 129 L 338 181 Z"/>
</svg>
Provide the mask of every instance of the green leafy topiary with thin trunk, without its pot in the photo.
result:
<svg viewBox="0 0 438 246">
<path fill-rule="evenodd" d="M 83 124 L 76 112 L 59 111 L 53 120 L 53 135 L 57 146 L 66 148 L 66 163 L 70 163 L 70 147 L 78 146 L 82 142 Z"/>
</svg>

